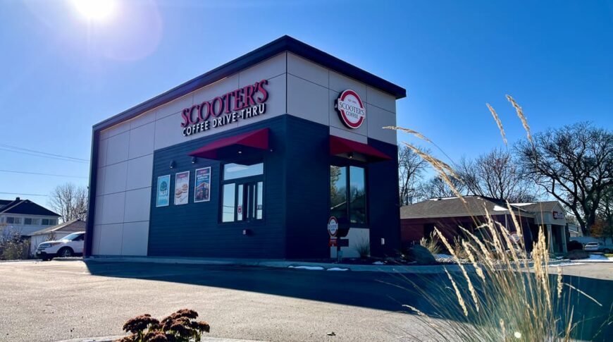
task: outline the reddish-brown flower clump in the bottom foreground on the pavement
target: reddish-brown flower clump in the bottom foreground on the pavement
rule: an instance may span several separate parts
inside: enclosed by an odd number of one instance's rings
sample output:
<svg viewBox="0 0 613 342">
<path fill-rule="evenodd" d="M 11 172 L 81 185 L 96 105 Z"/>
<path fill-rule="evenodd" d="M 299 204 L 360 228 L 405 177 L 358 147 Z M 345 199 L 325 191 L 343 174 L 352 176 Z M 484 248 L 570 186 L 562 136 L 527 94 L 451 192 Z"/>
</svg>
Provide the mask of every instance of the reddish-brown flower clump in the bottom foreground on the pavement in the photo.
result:
<svg viewBox="0 0 613 342">
<path fill-rule="evenodd" d="M 128 319 L 123 324 L 129 336 L 118 339 L 116 342 L 188 342 L 201 341 L 202 334 L 211 331 L 207 322 L 196 322 L 198 312 L 190 309 L 181 309 L 161 321 L 151 317 L 151 314 Z"/>
</svg>

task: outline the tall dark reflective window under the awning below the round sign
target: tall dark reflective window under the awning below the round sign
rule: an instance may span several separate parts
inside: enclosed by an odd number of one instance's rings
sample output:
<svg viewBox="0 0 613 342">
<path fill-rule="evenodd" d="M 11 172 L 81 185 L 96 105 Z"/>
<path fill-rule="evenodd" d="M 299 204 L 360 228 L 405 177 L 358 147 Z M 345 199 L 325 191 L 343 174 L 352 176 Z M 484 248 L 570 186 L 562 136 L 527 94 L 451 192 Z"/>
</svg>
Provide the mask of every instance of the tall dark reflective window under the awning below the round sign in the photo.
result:
<svg viewBox="0 0 613 342">
<path fill-rule="evenodd" d="M 330 215 L 366 224 L 366 172 L 359 166 L 330 166 Z"/>
</svg>

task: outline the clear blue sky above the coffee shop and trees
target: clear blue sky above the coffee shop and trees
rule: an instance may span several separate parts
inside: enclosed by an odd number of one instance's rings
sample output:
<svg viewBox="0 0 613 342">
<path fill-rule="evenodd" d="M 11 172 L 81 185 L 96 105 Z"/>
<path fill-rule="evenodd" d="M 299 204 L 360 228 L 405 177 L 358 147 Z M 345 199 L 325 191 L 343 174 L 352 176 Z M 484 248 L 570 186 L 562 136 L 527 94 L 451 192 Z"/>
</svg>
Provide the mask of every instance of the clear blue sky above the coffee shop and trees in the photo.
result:
<svg viewBox="0 0 613 342">
<path fill-rule="evenodd" d="M 407 89 L 398 123 L 452 159 L 577 121 L 613 129 L 612 1 L 120 1 L 86 20 L 72 1 L 0 5 L 0 198 L 87 185 L 91 128 L 291 35 Z M 401 140 L 416 142 L 400 135 Z M 39 202 L 47 197 L 23 196 Z"/>
</svg>

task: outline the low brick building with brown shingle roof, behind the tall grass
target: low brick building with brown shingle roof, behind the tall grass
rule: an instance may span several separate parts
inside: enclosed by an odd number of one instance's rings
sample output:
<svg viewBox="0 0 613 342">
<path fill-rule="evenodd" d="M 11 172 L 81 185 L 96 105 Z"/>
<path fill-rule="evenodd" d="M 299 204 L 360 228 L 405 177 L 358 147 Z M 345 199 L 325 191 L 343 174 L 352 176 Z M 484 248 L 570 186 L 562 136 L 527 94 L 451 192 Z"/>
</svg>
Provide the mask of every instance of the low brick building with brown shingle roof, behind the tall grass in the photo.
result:
<svg viewBox="0 0 613 342">
<path fill-rule="evenodd" d="M 467 229 L 476 235 L 478 228 L 487 223 L 490 216 L 510 232 L 517 231 L 513 217 L 517 219 L 524 235 L 524 243 L 531 246 L 538 232 L 545 233 L 551 252 L 566 252 L 568 233 L 566 212 L 557 201 L 534 203 L 510 203 L 485 196 L 433 198 L 405 205 L 400 208 L 400 225 L 404 246 L 429 238 L 438 228 L 448 240 L 462 237 Z"/>
</svg>

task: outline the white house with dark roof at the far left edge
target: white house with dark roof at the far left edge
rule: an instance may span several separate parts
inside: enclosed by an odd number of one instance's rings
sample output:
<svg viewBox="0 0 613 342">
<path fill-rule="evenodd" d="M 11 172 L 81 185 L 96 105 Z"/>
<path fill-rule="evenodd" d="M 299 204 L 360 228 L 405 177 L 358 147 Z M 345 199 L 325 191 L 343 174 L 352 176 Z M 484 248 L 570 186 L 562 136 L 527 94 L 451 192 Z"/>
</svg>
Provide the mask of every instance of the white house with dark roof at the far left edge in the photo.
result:
<svg viewBox="0 0 613 342">
<path fill-rule="evenodd" d="M 27 236 L 58 224 L 60 215 L 30 200 L 0 200 L 0 226 Z"/>
</svg>

